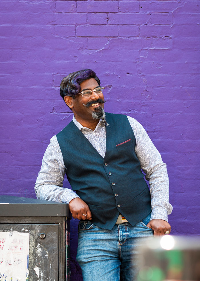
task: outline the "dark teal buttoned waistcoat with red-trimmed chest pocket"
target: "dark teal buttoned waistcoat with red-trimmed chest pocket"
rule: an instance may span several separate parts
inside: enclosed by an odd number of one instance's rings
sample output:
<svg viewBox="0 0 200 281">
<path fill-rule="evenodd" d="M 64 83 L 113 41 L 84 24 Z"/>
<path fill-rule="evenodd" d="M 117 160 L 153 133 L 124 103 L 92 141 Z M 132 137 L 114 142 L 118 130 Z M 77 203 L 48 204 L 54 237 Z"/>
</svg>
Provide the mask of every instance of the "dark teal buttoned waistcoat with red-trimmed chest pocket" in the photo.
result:
<svg viewBox="0 0 200 281">
<path fill-rule="evenodd" d="M 106 113 L 103 159 L 73 121 L 57 134 L 67 179 L 92 213 L 91 222 L 112 229 L 121 213 L 135 225 L 151 212 L 151 196 L 127 116 Z"/>
</svg>

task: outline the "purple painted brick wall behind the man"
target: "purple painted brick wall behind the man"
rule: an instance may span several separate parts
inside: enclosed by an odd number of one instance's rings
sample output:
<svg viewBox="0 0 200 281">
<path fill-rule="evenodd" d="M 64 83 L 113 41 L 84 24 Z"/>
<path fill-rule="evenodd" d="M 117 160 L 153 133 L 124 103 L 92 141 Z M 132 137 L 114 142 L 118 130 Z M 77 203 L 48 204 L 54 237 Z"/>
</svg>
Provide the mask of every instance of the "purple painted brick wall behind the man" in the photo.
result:
<svg viewBox="0 0 200 281">
<path fill-rule="evenodd" d="M 1 194 L 35 198 L 49 139 L 72 118 L 61 78 L 91 68 L 106 110 L 141 122 L 167 163 L 172 233 L 199 234 L 199 5 L 2 0 Z M 76 239 L 74 220 L 72 281 L 82 280 Z"/>
</svg>

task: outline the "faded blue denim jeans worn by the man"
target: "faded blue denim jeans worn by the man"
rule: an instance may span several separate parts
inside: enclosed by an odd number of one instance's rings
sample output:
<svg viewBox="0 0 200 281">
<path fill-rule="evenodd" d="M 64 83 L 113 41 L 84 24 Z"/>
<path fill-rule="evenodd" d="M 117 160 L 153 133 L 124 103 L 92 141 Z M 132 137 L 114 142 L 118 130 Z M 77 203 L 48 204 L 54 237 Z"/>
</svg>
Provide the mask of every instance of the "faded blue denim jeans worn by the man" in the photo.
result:
<svg viewBox="0 0 200 281">
<path fill-rule="evenodd" d="M 84 281 L 135 281 L 137 246 L 153 236 L 151 213 L 134 227 L 130 223 L 102 229 L 90 221 L 78 227 L 77 262 Z"/>
</svg>

